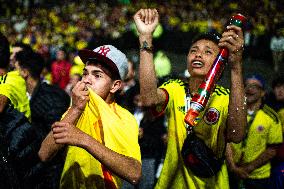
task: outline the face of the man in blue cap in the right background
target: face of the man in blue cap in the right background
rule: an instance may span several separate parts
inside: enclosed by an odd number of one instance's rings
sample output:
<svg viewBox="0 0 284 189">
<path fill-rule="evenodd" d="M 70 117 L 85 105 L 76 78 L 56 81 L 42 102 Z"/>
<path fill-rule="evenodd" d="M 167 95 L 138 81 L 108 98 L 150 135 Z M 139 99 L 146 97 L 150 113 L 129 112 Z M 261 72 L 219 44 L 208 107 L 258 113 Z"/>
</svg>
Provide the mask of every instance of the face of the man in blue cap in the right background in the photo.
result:
<svg viewBox="0 0 284 189">
<path fill-rule="evenodd" d="M 247 103 L 253 104 L 264 97 L 265 92 L 261 87 L 261 83 L 255 79 L 247 79 L 245 82 L 245 94 L 247 97 Z"/>
</svg>

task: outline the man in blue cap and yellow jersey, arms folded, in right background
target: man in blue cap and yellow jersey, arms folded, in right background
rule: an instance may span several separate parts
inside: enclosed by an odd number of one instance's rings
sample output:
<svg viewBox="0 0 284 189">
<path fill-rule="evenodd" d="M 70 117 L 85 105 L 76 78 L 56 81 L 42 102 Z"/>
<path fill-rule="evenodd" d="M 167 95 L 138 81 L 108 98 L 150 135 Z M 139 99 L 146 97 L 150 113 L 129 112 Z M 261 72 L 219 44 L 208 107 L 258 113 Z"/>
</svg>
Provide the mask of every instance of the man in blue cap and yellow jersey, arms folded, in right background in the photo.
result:
<svg viewBox="0 0 284 189">
<path fill-rule="evenodd" d="M 282 125 L 278 114 L 263 103 L 264 80 L 251 75 L 245 82 L 247 96 L 247 126 L 244 140 L 227 145 L 227 161 L 232 173 L 231 188 L 242 180 L 245 188 L 274 188 L 270 180 L 270 160 L 282 142 Z M 235 182 L 234 182 L 235 181 Z"/>
</svg>

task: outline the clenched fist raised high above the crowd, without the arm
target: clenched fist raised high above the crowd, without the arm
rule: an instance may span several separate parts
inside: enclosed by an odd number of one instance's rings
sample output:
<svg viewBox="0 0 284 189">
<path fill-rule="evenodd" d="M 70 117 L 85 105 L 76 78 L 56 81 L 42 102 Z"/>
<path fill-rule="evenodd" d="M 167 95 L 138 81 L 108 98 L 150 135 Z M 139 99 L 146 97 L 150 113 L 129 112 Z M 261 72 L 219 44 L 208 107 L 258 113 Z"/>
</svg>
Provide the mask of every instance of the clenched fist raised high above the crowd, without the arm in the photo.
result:
<svg viewBox="0 0 284 189">
<path fill-rule="evenodd" d="M 159 13 L 156 9 L 140 9 L 133 19 L 141 35 L 151 35 L 159 23 Z"/>
</svg>

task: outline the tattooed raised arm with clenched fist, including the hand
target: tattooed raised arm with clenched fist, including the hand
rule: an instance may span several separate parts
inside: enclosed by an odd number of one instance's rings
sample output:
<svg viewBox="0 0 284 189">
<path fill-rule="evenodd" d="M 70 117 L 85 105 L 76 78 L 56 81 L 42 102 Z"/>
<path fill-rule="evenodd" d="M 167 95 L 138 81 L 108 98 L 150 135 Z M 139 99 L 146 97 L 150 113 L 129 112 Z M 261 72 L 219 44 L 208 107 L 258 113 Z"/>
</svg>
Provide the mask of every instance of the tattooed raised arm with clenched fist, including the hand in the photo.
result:
<svg viewBox="0 0 284 189">
<path fill-rule="evenodd" d="M 156 9 L 140 9 L 134 15 L 136 28 L 139 32 L 140 65 L 139 83 L 144 106 L 155 106 L 165 102 L 166 96 L 161 89 L 157 89 L 157 77 L 153 61 L 153 32 L 159 22 Z"/>
</svg>

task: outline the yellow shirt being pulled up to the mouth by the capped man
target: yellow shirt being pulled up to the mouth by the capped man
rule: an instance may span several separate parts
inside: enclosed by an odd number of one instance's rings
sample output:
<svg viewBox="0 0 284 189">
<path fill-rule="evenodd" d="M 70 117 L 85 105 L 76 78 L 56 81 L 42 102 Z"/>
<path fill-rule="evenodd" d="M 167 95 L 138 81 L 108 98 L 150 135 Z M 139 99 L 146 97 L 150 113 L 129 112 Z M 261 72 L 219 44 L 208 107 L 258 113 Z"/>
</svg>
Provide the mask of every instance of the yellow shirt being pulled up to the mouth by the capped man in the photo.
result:
<svg viewBox="0 0 284 189">
<path fill-rule="evenodd" d="M 141 162 L 138 124 L 134 116 L 118 104 L 109 105 L 90 90 L 90 101 L 76 126 L 111 150 Z M 104 189 L 106 180 L 120 188 L 122 180 L 102 169 L 102 164 L 87 151 L 68 146 L 60 188 Z"/>
</svg>

